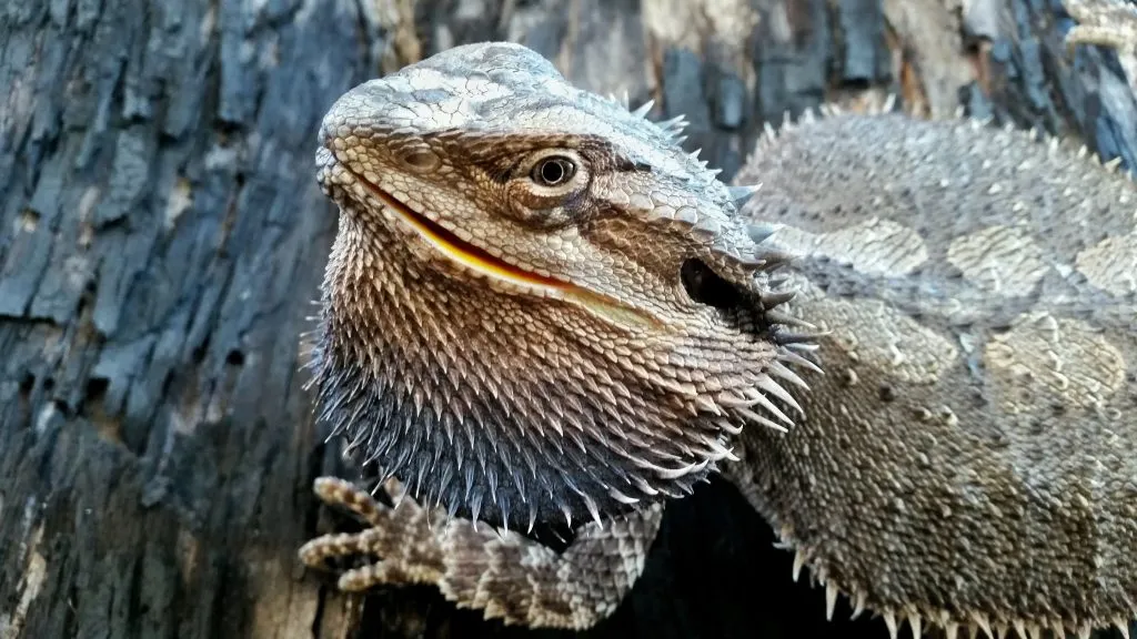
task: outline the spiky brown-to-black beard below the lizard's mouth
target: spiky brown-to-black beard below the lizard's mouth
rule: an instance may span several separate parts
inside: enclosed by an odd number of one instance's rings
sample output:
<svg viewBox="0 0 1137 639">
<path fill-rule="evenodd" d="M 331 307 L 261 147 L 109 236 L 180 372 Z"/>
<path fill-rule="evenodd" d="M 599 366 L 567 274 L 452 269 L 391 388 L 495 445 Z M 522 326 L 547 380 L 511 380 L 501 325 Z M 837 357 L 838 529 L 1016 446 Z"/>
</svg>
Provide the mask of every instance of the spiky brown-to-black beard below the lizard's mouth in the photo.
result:
<svg viewBox="0 0 1137 639">
<path fill-rule="evenodd" d="M 365 241 L 342 233 L 310 363 L 321 418 L 421 504 L 571 528 L 690 492 L 744 424 L 789 422 L 771 375 L 799 382 L 781 360 L 800 357 L 756 294 L 719 310 L 727 334 L 637 338 L 568 302 L 415 272 L 410 255 L 362 269 Z"/>
</svg>

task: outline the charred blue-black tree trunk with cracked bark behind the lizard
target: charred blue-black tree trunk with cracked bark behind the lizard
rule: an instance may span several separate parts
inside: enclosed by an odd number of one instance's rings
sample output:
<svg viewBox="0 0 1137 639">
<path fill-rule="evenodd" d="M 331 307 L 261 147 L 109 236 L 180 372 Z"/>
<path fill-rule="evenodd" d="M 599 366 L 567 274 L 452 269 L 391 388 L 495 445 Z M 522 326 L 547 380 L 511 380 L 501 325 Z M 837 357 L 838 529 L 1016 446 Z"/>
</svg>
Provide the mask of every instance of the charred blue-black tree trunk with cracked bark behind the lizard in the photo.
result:
<svg viewBox="0 0 1137 639">
<path fill-rule="evenodd" d="M 335 231 L 326 108 L 509 39 L 687 114 L 724 179 L 764 122 L 887 92 L 1137 167 L 1131 60 L 1068 58 L 1056 2 L 976 0 L 999 8 L 968 24 L 958 3 L 0 0 L 0 638 L 524 634 L 429 588 L 343 597 L 296 561 L 327 528 L 312 480 L 346 472 L 298 370 Z M 772 540 L 700 488 L 592 634 L 887 636 L 825 622 Z"/>
</svg>

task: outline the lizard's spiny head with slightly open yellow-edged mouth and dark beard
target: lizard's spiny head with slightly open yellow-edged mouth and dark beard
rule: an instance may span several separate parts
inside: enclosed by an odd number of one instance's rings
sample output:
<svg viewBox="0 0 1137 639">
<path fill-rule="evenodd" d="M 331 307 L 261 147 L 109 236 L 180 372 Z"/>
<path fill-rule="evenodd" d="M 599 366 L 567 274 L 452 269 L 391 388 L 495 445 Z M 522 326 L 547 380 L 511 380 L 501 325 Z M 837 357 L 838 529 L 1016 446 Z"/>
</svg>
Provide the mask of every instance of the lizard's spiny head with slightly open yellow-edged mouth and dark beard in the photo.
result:
<svg viewBox="0 0 1137 639">
<path fill-rule="evenodd" d="M 357 459 L 524 526 L 678 496 L 744 424 L 789 423 L 778 380 L 812 345 L 772 310 L 780 257 L 646 110 L 506 43 L 334 103 L 313 368 Z"/>
</svg>

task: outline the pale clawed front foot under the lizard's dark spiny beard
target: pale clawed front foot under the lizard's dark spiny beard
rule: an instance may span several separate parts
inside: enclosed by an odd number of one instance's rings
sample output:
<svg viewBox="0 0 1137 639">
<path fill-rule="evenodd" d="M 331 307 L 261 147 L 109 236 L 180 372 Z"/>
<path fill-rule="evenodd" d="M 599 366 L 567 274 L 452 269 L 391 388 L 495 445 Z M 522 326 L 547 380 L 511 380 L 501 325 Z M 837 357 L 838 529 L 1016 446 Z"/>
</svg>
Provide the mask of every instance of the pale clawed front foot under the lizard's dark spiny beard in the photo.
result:
<svg viewBox="0 0 1137 639">
<path fill-rule="evenodd" d="M 340 479 L 319 478 L 315 482 L 314 490 L 321 500 L 349 511 L 370 528 L 317 537 L 300 547 L 300 561 L 327 570 L 327 559 L 381 557 L 343 572 L 340 590 L 358 592 L 382 584 L 438 583 L 443 575 L 441 534 L 446 514 L 420 506 L 404 495 L 397 480 L 389 480 L 384 488 L 396 507 L 380 504 L 367 491 Z"/>
</svg>

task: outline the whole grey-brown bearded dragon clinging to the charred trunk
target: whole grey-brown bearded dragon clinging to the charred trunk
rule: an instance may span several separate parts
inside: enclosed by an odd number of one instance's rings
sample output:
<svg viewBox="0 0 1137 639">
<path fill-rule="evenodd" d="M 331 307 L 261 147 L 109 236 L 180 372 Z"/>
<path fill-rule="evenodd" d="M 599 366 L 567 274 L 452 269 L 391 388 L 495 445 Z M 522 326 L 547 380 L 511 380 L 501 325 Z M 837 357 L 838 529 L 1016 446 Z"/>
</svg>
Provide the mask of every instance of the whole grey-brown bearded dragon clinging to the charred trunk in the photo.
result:
<svg viewBox="0 0 1137 639">
<path fill-rule="evenodd" d="M 370 528 L 302 562 L 377 557 L 339 587 L 588 628 L 666 500 L 719 472 L 830 615 L 845 596 L 894 637 L 1124 632 L 1131 180 L 1028 132 L 827 109 L 767 132 L 737 179 L 761 189 L 728 188 L 647 110 L 509 43 L 331 108 L 313 383 L 398 505 L 318 479 Z M 557 522 L 563 549 L 538 533 Z"/>
</svg>

